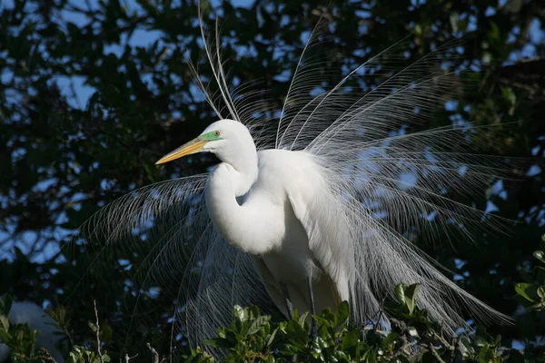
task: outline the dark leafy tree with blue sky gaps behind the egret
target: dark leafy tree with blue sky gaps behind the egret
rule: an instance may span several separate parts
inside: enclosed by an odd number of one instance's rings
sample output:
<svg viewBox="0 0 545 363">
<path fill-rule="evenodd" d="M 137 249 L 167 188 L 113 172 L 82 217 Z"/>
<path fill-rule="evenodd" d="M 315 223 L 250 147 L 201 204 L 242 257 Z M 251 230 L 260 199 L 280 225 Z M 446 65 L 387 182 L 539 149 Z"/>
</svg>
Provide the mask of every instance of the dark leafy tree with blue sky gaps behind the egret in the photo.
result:
<svg viewBox="0 0 545 363">
<path fill-rule="evenodd" d="M 223 52 L 233 84 L 260 79 L 280 107 L 308 34 L 324 15 L 332 26 L 324 50 L 349 68 L 409 34 L 412 58 L 463 36 L 457 44 L 472 87 L 428 125 L 454 117 L 514 123 L 489 146 L 510 156 L 533 155 L 527 178 L 498 184 L 462 201 L 520 221 L 510 235 L 478 243 L 423 246 L 452 277 L 495 309 L 516 316 L 513 327 L 490 327 L 502 345 L 545 332 L 542 313 L 520 309 L 514 286 L 536 263 L 545 193 L 545 5 L 541 1 L 213 2 L 223 28 Z M 164 152 L 215 120 L 195 92 L 188 59 L 209 67 L 199 41 L 195 1 L 16 0 L 0 7 L 0 294 L 66 305 L 75 341 L 93 341 L 93 299 L 113 331 L 109 350 L 134 354 L 145 342 L 166 351 L 173 301 L 154 299 L 149 325 L 128 324 L 120 306 L 131 271 L 118 269 L 100 285 L 82 284 L 87 259 L 59 250 L 74 230 L 108 201 L 134 188 L 202 172 L 203 155 L 157 168 Z M 327 64 L 325 65 L 327 67 Z M 346 68 L 332 68 L 332 83 Z M 334 73 L 338 72 L 338 73 Z M 491 204 L 490 204 L 491 202 Z M 66 263 L 67 258 L 74 260 Z M 107 260 L 108 256 L 103 256 Z M 137 260 L 138 256 L 134 256 Z M 113 264 L 118 261 L 112 260 Z M 131 294 L 124 299 L 129 309 Z M 117 359 L 117 357 L 114 357 Z"/>
</svg>

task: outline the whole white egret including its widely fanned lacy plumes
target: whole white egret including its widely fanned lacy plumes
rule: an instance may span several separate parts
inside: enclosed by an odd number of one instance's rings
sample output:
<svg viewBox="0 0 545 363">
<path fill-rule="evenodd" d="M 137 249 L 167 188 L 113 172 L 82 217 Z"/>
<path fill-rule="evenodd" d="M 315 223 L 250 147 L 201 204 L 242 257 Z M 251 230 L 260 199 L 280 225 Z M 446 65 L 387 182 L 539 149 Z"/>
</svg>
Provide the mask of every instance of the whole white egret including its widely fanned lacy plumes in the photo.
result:
<svg viewBox="0 0 545 363">
<path fill-rule="evenodd" d="M 362 324 L 394 299 L 400 282 L 421 283 L 418 305 L 447 332 L 465 326 L 462 311 L 504 319 L 411 243 L 416 235 L 440 242 L 439 232 L 452 229 L 471 240 L 489 220 L 450 198 L 495 180 L 496 160 L 470 153 L 488 132 L 461 121 L 417 130 L 461 88 L 445 71 L 451 47 L 411 61 L 402 41 L 325 88 L 330 74 L 315 61 L 320 29 L 302 51 L 282 110 L 263 106 L 250 85 L 228 86 L 217 29 L 213 42 L 203 30 L 212 81 L 196 79 L 219 121 L 158 163 L 196 152 L 221 163 L 133 191 L 84 227 L 101 251 L 138 256 L 139 296 L 172 294 L 173 344 L 210 338 L 235 304 L 288 315 L 290 302 L 302 311 L 349 300 Z M 443 233 L 441 243 L 454 240 Z"/>
</svg>

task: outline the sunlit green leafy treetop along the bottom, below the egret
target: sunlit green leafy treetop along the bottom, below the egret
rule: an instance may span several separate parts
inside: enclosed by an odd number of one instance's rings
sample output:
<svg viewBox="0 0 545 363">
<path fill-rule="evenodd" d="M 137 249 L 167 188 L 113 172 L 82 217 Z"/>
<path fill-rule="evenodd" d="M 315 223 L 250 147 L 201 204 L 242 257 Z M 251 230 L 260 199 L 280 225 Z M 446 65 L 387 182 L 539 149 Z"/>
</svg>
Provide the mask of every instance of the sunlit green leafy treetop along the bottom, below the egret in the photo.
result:
<svg viewBox="0 0 545 363">
<path fill-rule="evenodd" d="M 377 316 L 364 327 L 348 324 L 350 311 L 346 301 L 335 313 L 324 309 L 318 316 L 302 315 L 294 311 L 292 319 L 272 322 L 270 316 L 260 315 L 256 306 L 234 307 L 234 319 L 229 327 L 218 329 L 217 338 L 203 341 L 207 349 L 223 352 L 225 362 L 479 362 L 519 363 L 545 362 L 545 347 L 529 345 L 520 350 L 500 346 L 501 337 L 492 337 L 484 329 L 466 331 L 454 338 L 445 338 L 441 327 L 428 318 L 426 311 L 418 309 L 415 302 L 419 284 L 399 284 L 396 287 L 397 301 L 388 303 L 391 313 L 391 329 L 385 331 Z M 5 322 L 11 298 L 0 299 L 0 338 L 13 349 L 14 362 L 50 360 L 48 352 L 41 349 L 35 353 L 35 330 L 28 325 L 10 326 Z M 65 321 L 53 314 L 56 326 L 64 329 Z M 316 336 L 311 337 L 313 319 L 317 326 Z M 73 345 L 68 355 L 69 363 L 104 363 L 110 357 L 104 350 L 112 336 L 111 329 L 89 323 L 94 331 L 96 347 L 101 350 Z M 64 329 L 67 331 L 67 329 Z M 156 363 L 173 358 L 161 356 L 149 343 L 147 358 Z M 133 358 L 136 358 L 133 356 Z M 132 358 L 125 354 L 125 362 Z M 176 357 L 184 363 L 213 363 L 215 359 L 203 348 Z"/>
</svg>

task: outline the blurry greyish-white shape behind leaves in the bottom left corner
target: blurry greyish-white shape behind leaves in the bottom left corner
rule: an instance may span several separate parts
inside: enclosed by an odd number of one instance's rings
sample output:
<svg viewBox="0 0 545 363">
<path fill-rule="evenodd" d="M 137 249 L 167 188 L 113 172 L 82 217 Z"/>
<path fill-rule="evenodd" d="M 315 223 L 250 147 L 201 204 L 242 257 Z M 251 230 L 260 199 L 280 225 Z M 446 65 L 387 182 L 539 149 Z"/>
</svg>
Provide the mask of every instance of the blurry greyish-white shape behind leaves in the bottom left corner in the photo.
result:
<svg viewBox="0 0 545 363">
<path fill-rule="evenodd" d="M 52 323 L 54 320 L 45 315 L 44 309 L 30 301 L 15 301 L 7 317 L 10 324 L 26 324 L 36 333 L 36 348 L 45 348 L 57 363 L 64 363 L 64 358 L 59 350 L 62 338 L 61 331 Z M 10 349 L 0 343 L 0 363 L 7 361 Z"/>
</svg>

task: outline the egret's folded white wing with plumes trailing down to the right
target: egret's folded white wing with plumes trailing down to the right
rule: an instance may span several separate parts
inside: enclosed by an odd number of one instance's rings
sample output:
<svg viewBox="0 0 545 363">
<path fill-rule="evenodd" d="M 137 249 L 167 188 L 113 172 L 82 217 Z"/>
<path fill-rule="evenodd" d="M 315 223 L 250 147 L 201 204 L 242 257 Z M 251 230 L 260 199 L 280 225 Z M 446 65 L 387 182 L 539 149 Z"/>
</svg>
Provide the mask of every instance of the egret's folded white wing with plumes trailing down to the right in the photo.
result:
<svg viewBox="0 0 545 363">
<path fill-rule="evenodd" d="M 474 319 L 508 320 L 445 277 L 444 269 L 437 262 L 412 245 L 402 230 L 395 228 L 410 227 L 403 223 L 416 220 L 419 214 L 411 213 L 418 213 L 417 208 L 424 203 L 430 208 L 442 209 L 441 212 L 452 219 L 463 217 L 459 214 L 463 209 L 448 210 L 444 204 L 426 201 L 425 194 L 406 194 L 402 189 L 390 188 L 389 194 L 377 195 L 376 184 L 370 189 L 358 189 L 359 183 L 351 179 L 346 170 L 338 170 L 340 165 L 357 170 L 357 165 L 351 165 L 353 161 L 332 163 L 325 162 L 325 158 L 309 157 L 316 162 L 301 163 L 312 166 L 303 167 L 301 174 L 294 174 L 288 183 L 288 197 L 307 232 L 316 260 L 339 289 L 341 298 L 351 298 L 352 317 L 357 323 L 376 316 L 383 299 L 395 299 L 394 288 L 400 282 L 421 283 L 419 306 L 451 333 L 465 325 L 462 309 L 471 311 Z M 381 181 L 383 175 L 373 177 Z M 304 185 L 306 187 L 302 187 Z M 372 213 L 366 204 L 369 201 L 380 203 L 384 209 L 391 208 L 391 213 L 400 213 L 398 209 L 401 209 L 409 215 L 404 216 L 404 220 L 394 220 L 397 225 L 392 224 L 388 218 Z M 438 222 L 441 226 L 441 221 Z M 416 222 L 414 225 L 419 226 Z M 429 232 L 426 225 L 420 226 L 422 232 Z"/>
</svg>

